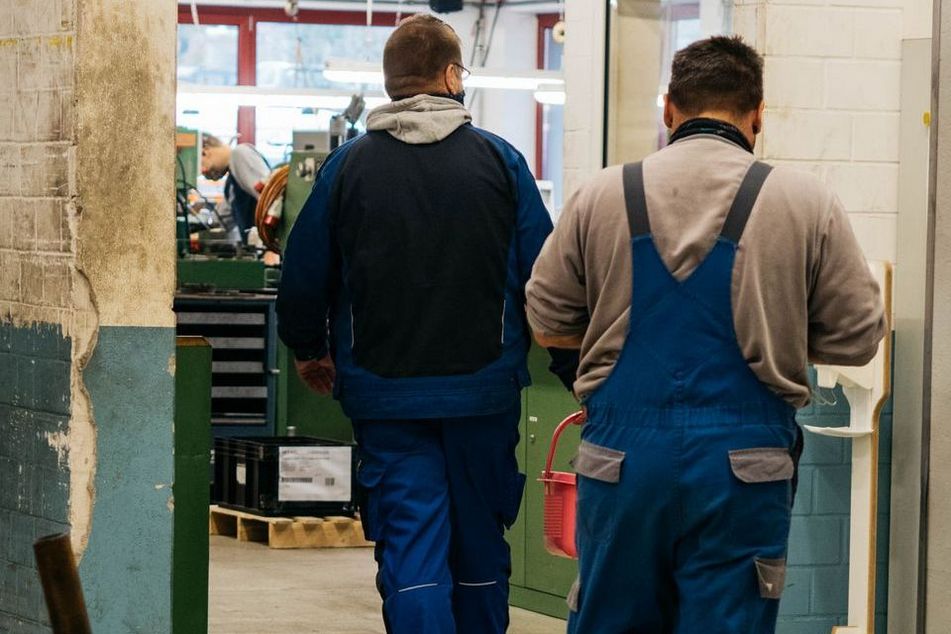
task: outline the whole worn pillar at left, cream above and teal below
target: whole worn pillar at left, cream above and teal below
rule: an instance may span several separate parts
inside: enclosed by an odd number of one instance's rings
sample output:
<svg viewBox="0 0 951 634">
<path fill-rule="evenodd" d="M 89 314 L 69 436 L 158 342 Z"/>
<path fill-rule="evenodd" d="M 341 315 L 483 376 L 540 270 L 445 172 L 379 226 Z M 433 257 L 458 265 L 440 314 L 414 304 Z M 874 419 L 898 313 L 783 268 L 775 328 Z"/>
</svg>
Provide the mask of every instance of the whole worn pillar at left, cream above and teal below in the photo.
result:
<svg viewBox="0 0 951 634">
<path fill-rule="evenodd" d="M 170 624 L 176 3 L 0 3 L 0 630 L 71 528 L 96 631 Z"/>
</svg>

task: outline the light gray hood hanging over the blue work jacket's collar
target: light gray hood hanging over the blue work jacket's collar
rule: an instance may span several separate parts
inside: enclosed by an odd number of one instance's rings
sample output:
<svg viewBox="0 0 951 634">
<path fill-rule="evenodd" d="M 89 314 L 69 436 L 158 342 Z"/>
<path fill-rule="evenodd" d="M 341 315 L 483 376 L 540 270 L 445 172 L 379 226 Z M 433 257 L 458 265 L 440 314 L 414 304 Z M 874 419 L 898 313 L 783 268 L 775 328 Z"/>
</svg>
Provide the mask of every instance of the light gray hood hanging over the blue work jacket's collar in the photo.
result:
<svg viewBox="0 0 951 634">
<path fill-rule="evenodd" d="M 416 95 L 371 110 L 367 130 L 386 130 L 404 143 L 421 145 L 442 141 L 470 121 L 469 111 L 453 99 Z"/>
</svg>

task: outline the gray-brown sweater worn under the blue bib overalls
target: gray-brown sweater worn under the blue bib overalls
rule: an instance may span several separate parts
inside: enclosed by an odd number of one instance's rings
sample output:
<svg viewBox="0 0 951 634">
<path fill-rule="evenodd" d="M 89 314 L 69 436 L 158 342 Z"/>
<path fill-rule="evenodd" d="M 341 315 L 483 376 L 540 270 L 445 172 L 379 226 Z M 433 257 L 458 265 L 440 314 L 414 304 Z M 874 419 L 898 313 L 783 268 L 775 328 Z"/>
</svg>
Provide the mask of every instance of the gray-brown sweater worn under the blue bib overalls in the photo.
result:
<svg viewBox="0 0 951 634">
<path fill-rule="evenodd" d="M 712 249 L 752 162 L 704 135 L 644 161 L 654 241 L 677 279 Z M 609 167 L 568 200 L 526 288 L 534 330 L 584 337 L 580 398 L 610 374 L 624 344 L 631 273 L 621 168 Z M 862 365 L 874 356 L 886 330 L 878 285 L 845 209 L 814 176 L 780 167 L 767 179 L 740 241 L 733 314 L 750 368 L 795 407 L 809 402 L 807 362 Z"/>
</svg>

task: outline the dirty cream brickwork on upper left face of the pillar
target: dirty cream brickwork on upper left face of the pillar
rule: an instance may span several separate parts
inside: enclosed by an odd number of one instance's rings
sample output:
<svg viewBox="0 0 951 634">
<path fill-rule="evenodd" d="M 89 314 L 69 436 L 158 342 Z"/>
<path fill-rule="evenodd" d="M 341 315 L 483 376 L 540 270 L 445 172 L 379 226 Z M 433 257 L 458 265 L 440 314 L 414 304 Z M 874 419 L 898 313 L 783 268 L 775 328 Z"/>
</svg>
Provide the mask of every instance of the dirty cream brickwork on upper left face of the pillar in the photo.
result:
<svg viewBox="0 0 951 634">
<path fill-rule="evenodd" d="M 0 318 L 67 323 L 74 0 L 0 0 Z"/>
</svg>

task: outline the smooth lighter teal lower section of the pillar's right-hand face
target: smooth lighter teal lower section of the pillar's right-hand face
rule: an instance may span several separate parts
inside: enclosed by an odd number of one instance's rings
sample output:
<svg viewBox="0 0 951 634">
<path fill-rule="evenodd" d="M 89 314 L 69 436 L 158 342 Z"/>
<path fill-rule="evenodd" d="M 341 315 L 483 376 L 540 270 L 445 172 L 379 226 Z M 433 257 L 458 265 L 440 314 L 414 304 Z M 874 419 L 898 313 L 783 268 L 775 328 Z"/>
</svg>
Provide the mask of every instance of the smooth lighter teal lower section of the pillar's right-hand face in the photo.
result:
<svg viewBox="0 0 951 634">
<path fill-rule="evenodd" d="M 96 498 L 80 565 L 93 631 L 171 630 L 174 328 L 100 327 L 83 372 Z"/>
</svg>

